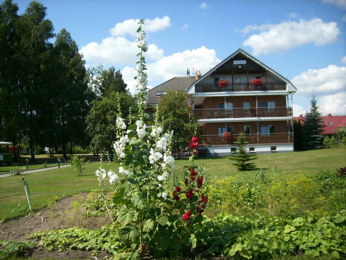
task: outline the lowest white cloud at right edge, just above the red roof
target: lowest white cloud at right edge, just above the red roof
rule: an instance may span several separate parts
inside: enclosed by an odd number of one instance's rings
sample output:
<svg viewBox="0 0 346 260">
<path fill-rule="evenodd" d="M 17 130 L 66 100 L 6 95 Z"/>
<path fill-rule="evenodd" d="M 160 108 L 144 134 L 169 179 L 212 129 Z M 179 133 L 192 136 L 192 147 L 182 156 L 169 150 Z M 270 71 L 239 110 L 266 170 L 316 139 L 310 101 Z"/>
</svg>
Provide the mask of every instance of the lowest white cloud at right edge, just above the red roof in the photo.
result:
<svg viewBox="0 0 346 260">
<path fill-rule="evenodd" d="M 345 115 L 346 114 L 346 92 L 327 95 L 318 99 L 319 111 L 322 115 Z"/>
</svg>

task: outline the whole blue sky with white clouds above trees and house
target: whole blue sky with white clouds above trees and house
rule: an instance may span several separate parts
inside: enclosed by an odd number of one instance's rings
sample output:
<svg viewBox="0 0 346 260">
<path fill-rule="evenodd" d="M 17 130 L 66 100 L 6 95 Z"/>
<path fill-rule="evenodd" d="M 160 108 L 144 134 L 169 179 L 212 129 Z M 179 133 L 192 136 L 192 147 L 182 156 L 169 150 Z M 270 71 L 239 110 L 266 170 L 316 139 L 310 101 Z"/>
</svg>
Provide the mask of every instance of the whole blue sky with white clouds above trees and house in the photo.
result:
<svg viewBox="0 0 346 260">
<path fill-rule="evenodd" d="M 17 0 L 19 12 L 30 1 Z M 294 115 L 314 93 L 326 115 L 346 114 L 346 0 L 42 1 L 55 32 L 66 28 L 86 64 L 123 73 L 135 92 L 135 20 L 149 19 L 148 85 L 192 67 L 206 73 L 239 47 L 292 81 Z"/>
</svg>

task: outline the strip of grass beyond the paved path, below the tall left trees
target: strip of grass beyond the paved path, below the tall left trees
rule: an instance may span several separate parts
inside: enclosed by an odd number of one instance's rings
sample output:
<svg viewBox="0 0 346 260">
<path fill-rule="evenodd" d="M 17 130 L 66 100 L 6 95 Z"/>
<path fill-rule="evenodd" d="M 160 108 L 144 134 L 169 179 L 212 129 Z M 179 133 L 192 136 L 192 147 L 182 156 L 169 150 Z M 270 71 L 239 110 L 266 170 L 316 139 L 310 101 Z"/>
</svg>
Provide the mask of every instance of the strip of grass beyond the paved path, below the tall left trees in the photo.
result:
<svg viewBox="0 0 346 260">
<path fill-rule="evenodd" d="M 70 159 L 70 155 L 67 156 Z M 86 160 L 90 160 L 92 158 L 95 158 L 97 156 L 93 155 L 86 155 L 84 156 Z M 46 154 L 40 154 L 40 155 L 35 155 L 36 158 L 36 163 L 30 163 L 30 155 L 21 155 L 18 162 L 13 162 L 11 165 L 7 166 L 1 166 L 0 167 L 0 174 L 5 174 L 9 173 L 10 171 L 16 170 L 16 167 L 26 168 L 26 159 L 29 160 L 29 170 L 36 170 L 40 168 L 44 168 L 42 164 L 44 162 L 48 162 L 47 167 L 52 167 L 52 166 L 58 166 L 57 159 L 60 158 L 63 161 L 63 155 L 62 154 L 56 154 L 53 157 L 49 157 Z M 60 163 L 60 165 L 63 165 L 66 163 Z"/>
</svg>

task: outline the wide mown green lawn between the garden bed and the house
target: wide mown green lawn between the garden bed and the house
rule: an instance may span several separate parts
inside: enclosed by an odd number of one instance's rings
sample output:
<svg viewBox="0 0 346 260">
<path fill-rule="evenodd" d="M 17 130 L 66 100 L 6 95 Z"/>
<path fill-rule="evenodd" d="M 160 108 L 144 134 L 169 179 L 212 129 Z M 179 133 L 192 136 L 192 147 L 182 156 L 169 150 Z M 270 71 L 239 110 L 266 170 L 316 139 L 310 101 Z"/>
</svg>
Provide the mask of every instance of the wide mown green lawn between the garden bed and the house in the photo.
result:
<svg viewBox="0 0 346 260">
<path fill-rule="evenodd" d="M 256 159 L 258 168 L 265 168 L 268 175 L 271 174 L 271 168 L 277 164 L 276 172 L 281 179 L 289 179 L 297 174 L 314 174 L 318 169 L 322 168 L 339 168 L 346 165 L 346 149 L 322 149 L 313 151 L 303 151 L 294 153 L 275 153 L 258 155 Z M 239 174 L 236 168 L 231 164 L 227 157 L 197 159 L 196 163 L 207 167 L 209 173 L 218 175 L 220 178 L 234 176 Z M 182 166 L 189 165 L 188 160 L 176 160 L 176 168 L 182 169 Z M 113 167 L 116 165 L 114 164 Z M 78 173 L 72 167 L 48 170 L 37 173 L 29 173 L 24 175 L 28 182 L 31 192 L 31 207 L 33 210 L 38 210 L 53 202 L 61 199 L 63 196 L 71 196 L 73 194 L 89 191 L 90 189 L 98 189 L 98 181 L 95 176 L 99 164 L 86 164 L 83 170 L 83 176 L 78 176 Z M 109 166 L 104 165 L 106 171 Z M 252 171 L 255 173 L 256 171 Z M 106 178 L 108 182 L 108 178 Z M 107 185 L 106 189 L 109 189 Z M 19 196 L 12 196 L 21 194 Z M 10 196 L 10 197 L 4 197 Z M 4 197 L 4 198 L 2 198 Z M 0 204 L 6 205 L 9 210 L 24 209 L 27 206 L 26 197 L 21 176 L 9 176 L 0 178 Z M 18 204 L 20 204 L 18 208 Z M 0 221 L 2 218 L 9 219 L 19 215 L 27 215 L 24 213 L 8 213 L 0 207 Z"/>
</svg>

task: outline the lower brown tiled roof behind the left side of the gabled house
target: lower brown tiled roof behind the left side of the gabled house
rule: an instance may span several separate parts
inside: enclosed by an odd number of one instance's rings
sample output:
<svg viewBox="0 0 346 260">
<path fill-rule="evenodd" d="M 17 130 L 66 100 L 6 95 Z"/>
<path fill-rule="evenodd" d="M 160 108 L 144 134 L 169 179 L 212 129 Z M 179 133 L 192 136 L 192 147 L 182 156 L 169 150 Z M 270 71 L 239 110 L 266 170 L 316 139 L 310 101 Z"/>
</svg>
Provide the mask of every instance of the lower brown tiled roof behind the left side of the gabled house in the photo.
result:
<svg viewBox="0 0 346 260">
<path fill-rule="evenodd" d="M 157 104 L 160 101 L 160 95 L 157 92 L 167 92 L 167 90 L 186 90 L 196 81 L 196 77 L 174 77 L 148 91 L 148 104 Z"/>
</svg>

